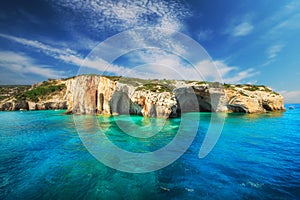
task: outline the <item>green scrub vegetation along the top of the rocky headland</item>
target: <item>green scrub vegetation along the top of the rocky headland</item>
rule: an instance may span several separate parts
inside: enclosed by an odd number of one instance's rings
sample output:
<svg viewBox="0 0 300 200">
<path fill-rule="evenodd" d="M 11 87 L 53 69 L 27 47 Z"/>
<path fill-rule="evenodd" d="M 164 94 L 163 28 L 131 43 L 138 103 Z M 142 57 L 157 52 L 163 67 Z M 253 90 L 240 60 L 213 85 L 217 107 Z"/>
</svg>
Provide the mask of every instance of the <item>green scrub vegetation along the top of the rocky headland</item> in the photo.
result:
<svg viewBox="0 0 300 200">
<path fill-rule="evenodd" d="M 93 74 L 94 76 L 99 76 Z M 88 76 L 88 75 L 81 75 Z M 136 90 L 145 90 L 151 92 L 170 92 L 172 93 L 173 89 L 176 88 L 177 84 L 192 84 L 192 85 L 203 85 L 205 87 L 211 88 L 224 88 L 236 90 L 236 88 L 242 88 L 244 92 L 240 91 L 240 94 L 243 96 L 248 96 L 245 91 L 264 91 L 269 92 L 275 95 L 278 93 L 272 91 L 269 87 L 264 85 L 251 85 L 251 84 L 222 84 L 219 82 L 207 82 L 207 81 L 193 81 L 193 80 L 166 80 L 166 79 L 140 79 L 140 78 L 131 78 L 131 77 L 122 77 L 122 76 L 108 76 L 102 75 L 112 81 L 117 81 L 122 84 L 128 84 L 136 87 Z M 61 93 L 65 90 L 66 86 L 64 81 L 69 80 L 74 77 L 54 80 L 48 79 L 42 83 L 37 83 L 33 86 L 0 86 L 0 101 L 5 99 L 15 98 L 17 100 L 28 100 L 33 102 L 38 102 L 40 100 L 46 100 L 52 96 Z M 182 82 L 182 83 L 180 83 Z"/>
</svg>

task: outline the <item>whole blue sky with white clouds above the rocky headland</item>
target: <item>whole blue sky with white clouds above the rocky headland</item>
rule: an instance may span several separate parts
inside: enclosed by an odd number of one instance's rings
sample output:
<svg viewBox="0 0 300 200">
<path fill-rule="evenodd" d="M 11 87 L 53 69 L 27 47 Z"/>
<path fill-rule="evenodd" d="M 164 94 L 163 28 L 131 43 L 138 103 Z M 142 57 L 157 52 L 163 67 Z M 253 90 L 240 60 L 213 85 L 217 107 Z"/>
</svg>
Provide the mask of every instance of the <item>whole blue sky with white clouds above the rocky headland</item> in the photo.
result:
<svg viewBox="0 0 300 200">
<path fill-rule="evenodd" d="M 299 21 L 298 0 L 2 1 L 0 84 L 201 79 L 267 85 L 299 103 Z"/>
</svg>

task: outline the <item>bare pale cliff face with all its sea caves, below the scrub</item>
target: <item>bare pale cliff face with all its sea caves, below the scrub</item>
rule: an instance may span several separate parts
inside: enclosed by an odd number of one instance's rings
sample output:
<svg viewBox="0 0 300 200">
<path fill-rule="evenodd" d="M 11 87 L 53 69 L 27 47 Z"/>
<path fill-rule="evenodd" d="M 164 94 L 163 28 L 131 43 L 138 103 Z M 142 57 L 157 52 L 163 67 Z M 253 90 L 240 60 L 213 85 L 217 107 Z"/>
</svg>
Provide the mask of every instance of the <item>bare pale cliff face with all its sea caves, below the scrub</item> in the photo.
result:
<svg viewBox="0 0 300 200">
<path fill-rule="evenodd" d="M 74 99 L 68 112 L 83 114 L 137 114 L 149 117 L 176 117 L 183 112 L 257 113 L 284 110 L 283 97 L 265 86 L 208 84 L 173 81 L 168 89 L 156 82 L 132 83 L 99 76 L 74 79 Z M 126 82 L 126 81 L 125 81 Z M 73 105 L 73 106 L 72 106 Z"/>
</svg>

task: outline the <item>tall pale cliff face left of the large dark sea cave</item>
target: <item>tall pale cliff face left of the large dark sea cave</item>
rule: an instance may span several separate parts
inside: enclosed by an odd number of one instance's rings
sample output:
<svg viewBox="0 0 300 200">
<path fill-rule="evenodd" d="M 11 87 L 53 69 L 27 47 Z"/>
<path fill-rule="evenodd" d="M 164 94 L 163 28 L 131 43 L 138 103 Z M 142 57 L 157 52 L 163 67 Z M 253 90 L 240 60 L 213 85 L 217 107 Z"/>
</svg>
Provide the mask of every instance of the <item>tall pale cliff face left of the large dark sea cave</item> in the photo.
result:
<svg viewBox="0 0 300 200">
<path fill-rule="evenodd" d="M 69 113 L 149 117 L 176 114 L 176 100 L 170 92 L 137 91 L 132 85 L 99 76 L 79 76 L 74 82 L 74 98 L 69 99 Z"/>
</svg>

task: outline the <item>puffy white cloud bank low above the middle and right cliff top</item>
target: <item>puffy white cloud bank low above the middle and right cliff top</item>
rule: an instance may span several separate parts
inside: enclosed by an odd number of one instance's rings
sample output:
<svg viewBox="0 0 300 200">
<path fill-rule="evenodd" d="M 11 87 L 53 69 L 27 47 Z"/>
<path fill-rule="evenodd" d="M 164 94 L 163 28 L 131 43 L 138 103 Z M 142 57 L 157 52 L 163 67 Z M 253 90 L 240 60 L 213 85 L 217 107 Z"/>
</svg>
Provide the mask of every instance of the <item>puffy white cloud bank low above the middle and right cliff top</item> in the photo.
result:
<svg viewBox="0 0 300 200">
<path fill-rule="evenodd" d="M 146 64 L 136 66 L 126 71 L 127 76 L 137 76 L 139 78 L 166 78 L 166 79 L 186 79 L 186 80 L 205 80 L 219 81 L 226 83 L 238 83 L 258 74 L 254 69 L 240 70 L 239 67 L 229 66 L 224 61 L 211 61 L 209 59 L 198 62 L 195 66 L 184 62 L 174 54 L 156 52 L 152 54 L 139 54 L 132 59 L 143 61 Z M 119 66 L 110 66 L 112 69 L 120 69 Z M 109 70 L 112 71 L 112 70 Z M 124 75 L 122 69 L 119 75 Z M 126 76 L 126 74 L 125 74 Z"/>
</svg>

